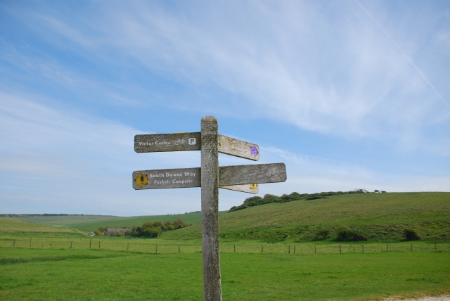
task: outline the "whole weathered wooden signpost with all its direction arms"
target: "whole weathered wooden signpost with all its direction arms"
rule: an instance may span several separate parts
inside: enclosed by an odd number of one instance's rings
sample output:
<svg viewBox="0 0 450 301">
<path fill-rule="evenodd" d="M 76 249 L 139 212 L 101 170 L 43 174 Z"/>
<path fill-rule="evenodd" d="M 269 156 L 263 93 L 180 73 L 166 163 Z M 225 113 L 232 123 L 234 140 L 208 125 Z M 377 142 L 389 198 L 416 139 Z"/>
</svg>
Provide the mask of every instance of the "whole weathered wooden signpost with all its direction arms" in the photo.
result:
<svg viewBox="0 0 450 301">
<path fill-rule="evenodd" d="M 219 188 L 258 193 L 258 184 L 286 181 L 284 163 L 219 167 L 219 154 L 259 160 L 259 146 L 217 133 L 217 119 L 202 118 L 201 132 L 134 136 L 136 153 L 201 151 L 201 167 L 133 172 L 133 188 L 201 187 L 204 300 L 221 300 Z"/>
</svg>

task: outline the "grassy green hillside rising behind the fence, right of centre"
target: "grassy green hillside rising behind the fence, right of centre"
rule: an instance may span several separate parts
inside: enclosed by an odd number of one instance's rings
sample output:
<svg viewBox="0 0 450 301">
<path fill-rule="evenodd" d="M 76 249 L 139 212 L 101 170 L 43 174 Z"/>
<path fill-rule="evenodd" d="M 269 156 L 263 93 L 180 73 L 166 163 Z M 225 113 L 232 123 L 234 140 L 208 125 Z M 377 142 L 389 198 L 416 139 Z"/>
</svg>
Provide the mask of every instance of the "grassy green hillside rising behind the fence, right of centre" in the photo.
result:
<svg viewBox="0 0 450 301">
<path fill-rule="evenodd" d="M 406 228 L 442 241 L 450 238 L 450 193 L 361 193 L 257 205 L 222 214 L 219 226 L 221 239 L 305 241 L 323 229 L 333 238 L 347 226 L 374 241 L 401 240 Z M 162 238 L 193 238 L 200 231 L 195 225 Z"/>
</svg>

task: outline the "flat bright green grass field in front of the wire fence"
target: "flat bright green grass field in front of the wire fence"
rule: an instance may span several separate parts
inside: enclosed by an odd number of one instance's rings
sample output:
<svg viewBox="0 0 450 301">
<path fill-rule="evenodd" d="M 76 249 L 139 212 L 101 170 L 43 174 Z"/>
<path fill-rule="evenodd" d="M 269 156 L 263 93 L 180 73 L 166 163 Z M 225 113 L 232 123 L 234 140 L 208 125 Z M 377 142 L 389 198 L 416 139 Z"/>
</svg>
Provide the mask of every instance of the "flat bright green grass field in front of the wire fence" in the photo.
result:
<svg viewBox="0 0 450 301">
<path fill-rule="evenodd" d="M 200 252 L 0 247 L 1 300 L 201 300 Z M 450 251 L 221 253 L 224 300 L 381 300 L 448 293 Z M 63 284 L 63 285 L 62 285 Z"/>
</svg>

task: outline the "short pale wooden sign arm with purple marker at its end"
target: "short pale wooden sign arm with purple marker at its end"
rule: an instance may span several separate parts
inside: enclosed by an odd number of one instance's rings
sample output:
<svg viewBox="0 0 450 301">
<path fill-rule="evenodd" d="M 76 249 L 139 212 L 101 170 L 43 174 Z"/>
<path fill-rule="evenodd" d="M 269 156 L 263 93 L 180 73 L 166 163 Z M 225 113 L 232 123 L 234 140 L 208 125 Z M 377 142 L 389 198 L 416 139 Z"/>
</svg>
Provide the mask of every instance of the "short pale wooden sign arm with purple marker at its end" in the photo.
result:
<svg viewBox="0 0 450 301">
<path fill-rule="evenodd" d="M 233 139 L 219 134 L 219 153 L 257 161 L 259 160 L 259 146 L 254 143 Z"/>
</svg>

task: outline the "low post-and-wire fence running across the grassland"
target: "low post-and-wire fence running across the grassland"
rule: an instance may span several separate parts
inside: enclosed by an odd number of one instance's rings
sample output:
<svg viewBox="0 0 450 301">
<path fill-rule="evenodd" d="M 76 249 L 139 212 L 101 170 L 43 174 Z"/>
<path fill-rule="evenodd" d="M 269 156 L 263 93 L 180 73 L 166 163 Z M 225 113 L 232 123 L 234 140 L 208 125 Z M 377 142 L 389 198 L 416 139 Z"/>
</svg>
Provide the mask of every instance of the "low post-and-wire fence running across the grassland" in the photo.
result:
<svg viewBox="0 0 450 301">
<path fill-rule="evenodd" d="M 148 253 L 193 253 L 201 252 L 200 242 L 153 241 L 150 239 L 127 238 L 3 238 L 4 248 L 39 249 L 103 249 Z M 449 251 L 450 243 L 426 243 L 423 241 L 402 243 L 257 243 L 221 242 L 220 252 L 278 253 L 286 255 L 335 254 L 349 252 L 411 252 Z"/>
</svg>

